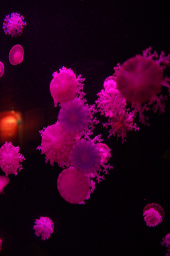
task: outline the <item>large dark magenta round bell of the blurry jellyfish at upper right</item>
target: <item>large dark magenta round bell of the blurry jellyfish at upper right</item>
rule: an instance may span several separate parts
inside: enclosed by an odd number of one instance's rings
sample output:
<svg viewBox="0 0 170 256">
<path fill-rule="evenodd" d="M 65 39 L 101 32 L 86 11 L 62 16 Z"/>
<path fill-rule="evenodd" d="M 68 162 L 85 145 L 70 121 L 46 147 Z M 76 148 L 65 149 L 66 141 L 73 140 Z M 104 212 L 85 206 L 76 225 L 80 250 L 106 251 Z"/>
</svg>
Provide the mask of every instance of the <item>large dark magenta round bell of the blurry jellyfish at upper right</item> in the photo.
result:
<svg viewBox="0 0 170 256">
<path fill-rule="evenodd" d="M 162 69 L 152 58 L 136 56 L 121 66 L 117 88 L 129 103 L 144 103 L 158 94 L 162 80 Z"/>
</svg>

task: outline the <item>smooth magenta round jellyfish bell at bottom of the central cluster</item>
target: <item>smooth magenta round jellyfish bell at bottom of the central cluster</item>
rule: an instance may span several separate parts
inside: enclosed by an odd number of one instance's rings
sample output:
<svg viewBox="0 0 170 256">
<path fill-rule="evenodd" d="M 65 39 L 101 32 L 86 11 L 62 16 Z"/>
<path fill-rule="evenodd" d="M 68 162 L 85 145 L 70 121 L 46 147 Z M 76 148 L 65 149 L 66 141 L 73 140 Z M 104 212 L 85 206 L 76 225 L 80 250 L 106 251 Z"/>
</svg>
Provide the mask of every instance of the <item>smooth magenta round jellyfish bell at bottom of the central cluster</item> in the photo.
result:
<svg viewBox="0 0 170 256">
<path fill-rule="evenodd" d="M 63 170 L 57 179 L 57 188 L 65 201 L 79 204 L 85 200 L 89 191 L 87 179 L 75 168 Z"/>
</svg>

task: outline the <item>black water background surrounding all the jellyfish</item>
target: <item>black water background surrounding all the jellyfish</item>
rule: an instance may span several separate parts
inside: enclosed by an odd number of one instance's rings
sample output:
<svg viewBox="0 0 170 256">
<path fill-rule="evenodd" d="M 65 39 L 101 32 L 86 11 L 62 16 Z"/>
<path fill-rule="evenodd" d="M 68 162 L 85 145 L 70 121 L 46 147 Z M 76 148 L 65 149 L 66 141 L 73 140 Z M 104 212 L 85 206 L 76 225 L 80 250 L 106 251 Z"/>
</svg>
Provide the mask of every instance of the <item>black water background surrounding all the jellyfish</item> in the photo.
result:
<svg viewBox="0 0 170 256">
<path fill-rule="evenodd" d="M 26 160 L 0 195 L 1 254 L 163 256 L 166 250 L 160 242 L 170 232 L 170 98 L 164 114 L 149 113 L 150 127 L 136 119 L 140 130 L 129 132 L 124 144 L 114 137 L 107 140 L 101 125 L 106 120 L 97 115 L 101 124 L 94 135 L 101 133 L 112 149 L 114 170 L 96 185 L 85 205 L 61 198 L 56 186 L 61 169 L 56 163 L 45 164 L 36 147 L 41 144 L 38 131 L 57 120 L 59 108 L 53 108 L 49 92 L 53 72 L 65 66 L 86 77 L 84 91 L 93 104 L 118 62 L 149 46 L 158 54 L 170 53 L 168 3 L 6 0 L 0 1 L 0 27 L 11 12 L 22 14 L 27 26 L 18 38 L 0 28 L 0 61 L 5 67 L 0 111 L 22 114 L 23 137 L 13 144 Z M 23 46 L 24 60 L 12 66 L 8 54 L 15 44 Z M 168 90 L 163 93 L 168 95 Z M 165 211 L 164 221 L 155 228 L 147 227 L 142 216 L 151 202 Z M 54 222 L 47 241 L 34 234 L 34 220 L 40 216 Z"/>
</svg>

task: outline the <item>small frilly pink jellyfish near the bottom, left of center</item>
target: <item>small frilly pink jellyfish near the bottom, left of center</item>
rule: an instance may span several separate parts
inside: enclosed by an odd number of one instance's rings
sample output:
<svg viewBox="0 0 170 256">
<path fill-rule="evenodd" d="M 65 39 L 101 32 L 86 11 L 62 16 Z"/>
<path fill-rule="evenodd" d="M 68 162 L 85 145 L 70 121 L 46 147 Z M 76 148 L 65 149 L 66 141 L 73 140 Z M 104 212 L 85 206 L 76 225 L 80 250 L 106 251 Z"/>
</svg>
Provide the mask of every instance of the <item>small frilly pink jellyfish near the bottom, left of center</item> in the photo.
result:
<svg viewBox="0 0 170 256">
<path fill-rule="evenodd" d="M 48 217 L 40 217 L 35 220 L 34 228 L 36 236 L 41 236 L 41 240 L 48 239 L 53 233 L 54 224 Z"/>
</svg>

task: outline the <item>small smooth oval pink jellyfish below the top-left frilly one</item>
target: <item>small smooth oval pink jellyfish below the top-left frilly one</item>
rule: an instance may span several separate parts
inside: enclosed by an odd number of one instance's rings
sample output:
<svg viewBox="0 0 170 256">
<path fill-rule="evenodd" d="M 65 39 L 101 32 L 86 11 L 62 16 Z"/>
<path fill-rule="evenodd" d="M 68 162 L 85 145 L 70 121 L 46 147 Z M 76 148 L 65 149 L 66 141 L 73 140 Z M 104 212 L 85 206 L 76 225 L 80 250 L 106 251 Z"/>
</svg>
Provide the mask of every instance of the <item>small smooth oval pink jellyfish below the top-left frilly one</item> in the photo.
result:
<svg viewBox="0 0 170 256">
<path fill-rule="evenodd" d="M 9 61 L 12 65 L 20 64 L 23 61 L 24 49 L 20 44 L 14 45 L 9 53 Z"/>
</svg>

